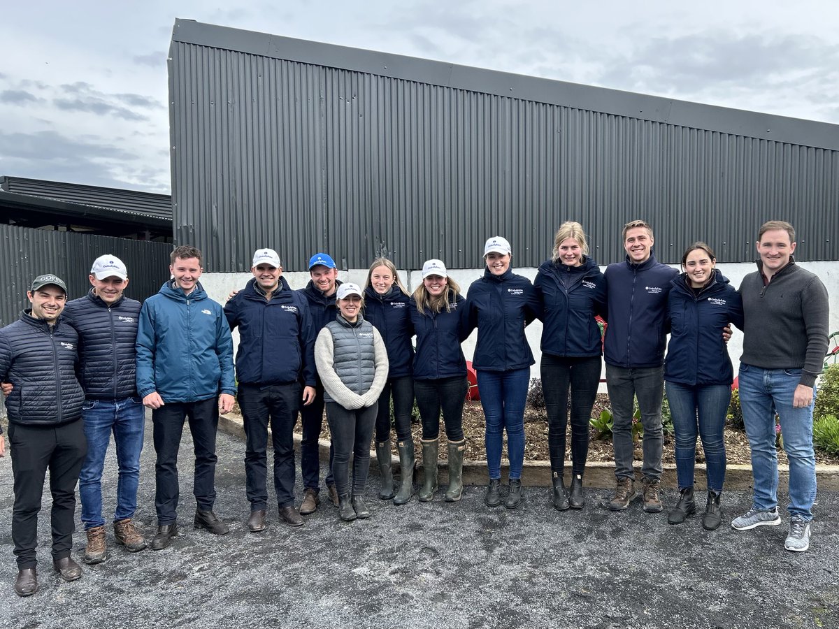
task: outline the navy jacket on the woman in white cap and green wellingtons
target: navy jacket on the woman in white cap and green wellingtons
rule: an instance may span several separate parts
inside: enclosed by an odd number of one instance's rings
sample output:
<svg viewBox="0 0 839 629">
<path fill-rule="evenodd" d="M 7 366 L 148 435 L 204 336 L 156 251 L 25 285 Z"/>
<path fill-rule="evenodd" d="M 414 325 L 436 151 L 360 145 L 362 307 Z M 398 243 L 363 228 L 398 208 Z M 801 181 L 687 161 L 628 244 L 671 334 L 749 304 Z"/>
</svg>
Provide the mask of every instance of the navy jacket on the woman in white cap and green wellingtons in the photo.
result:
<svg viewBox="0 0 839 629">
<path fill-rule="evenodd" d="M 446 309 L 440 312 L 425 309 L 420 312 L 414 298 L 410 298 L 411 327 L 417 335 L 414 380 L 466 377 L 466 358 L 461 350 L 461 341 L 468 336 L 463 334 L 461 317 L 466 299 L 461 295 L 451 299 L 451 295 L 450 290 L 448 297 L 451 312 Z"/>
</svg>

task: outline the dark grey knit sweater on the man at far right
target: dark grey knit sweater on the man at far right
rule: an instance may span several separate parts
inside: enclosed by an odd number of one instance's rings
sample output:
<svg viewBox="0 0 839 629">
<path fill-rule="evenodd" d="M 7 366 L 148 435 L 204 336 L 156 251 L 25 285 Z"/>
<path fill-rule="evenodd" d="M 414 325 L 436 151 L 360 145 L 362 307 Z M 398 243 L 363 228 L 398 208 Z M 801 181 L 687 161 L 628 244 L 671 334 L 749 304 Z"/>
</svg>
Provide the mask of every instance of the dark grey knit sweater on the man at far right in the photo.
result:
<svg viewBox="0 0 839 629">
<path fill-rule="evenodd" d="M 790 262 L 763 286 L 763 265 L 740 284 L 743 356 L 763 369 L 800 369 L 800 384 L 812 387 L 827 351 L 827 289 L 814 273 Z"/>
</svg>

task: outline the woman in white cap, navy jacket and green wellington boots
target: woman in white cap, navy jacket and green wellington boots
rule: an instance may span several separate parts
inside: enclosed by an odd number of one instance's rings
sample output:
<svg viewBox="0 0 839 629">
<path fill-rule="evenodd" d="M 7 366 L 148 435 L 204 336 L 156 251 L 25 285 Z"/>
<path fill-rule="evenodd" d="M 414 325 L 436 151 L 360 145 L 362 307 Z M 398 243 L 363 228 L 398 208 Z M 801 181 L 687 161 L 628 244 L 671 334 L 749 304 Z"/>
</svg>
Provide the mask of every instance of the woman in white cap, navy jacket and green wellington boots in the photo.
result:
<svg viewBox="0 0 839 629">
<path fill-rule="evenodd" d="M 422 418 L 422 459 L 425 482 L 418 498 L 430 501 L 437 489 L 440 449 L 440 412 L 449 442 L 449 488 L 446 502 L 457 502 L 463 492 L 463 403 L 466 399 L 466 358 L 461 351 L 464 299 L 440 260 L 423 264 L 422 283 L 411 297 L 410 318 L 417 336 L 414 392 Z"/>
</svg>

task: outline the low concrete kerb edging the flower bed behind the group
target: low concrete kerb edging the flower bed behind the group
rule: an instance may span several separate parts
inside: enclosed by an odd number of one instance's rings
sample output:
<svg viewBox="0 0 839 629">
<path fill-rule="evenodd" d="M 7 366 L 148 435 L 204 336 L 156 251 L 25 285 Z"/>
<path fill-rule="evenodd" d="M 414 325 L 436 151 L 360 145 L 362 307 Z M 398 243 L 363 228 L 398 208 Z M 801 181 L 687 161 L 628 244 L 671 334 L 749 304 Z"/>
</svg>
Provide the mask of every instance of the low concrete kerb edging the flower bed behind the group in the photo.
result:
<svg viewBox="0 0 839 629">
<path fill-rule="evenodd" d="M 239 415 L 220 415 L 219 429 L 227 434 L 245 438 L 244 424 Z M 268 439 L 270 446 L 271 440 Z M 300 449 L 300 434 L 294 433 L 294 446 Z M 329 441 L 320 439 L 320 460 L 329 460 Z M 399 469 L 399 458 L 393 457 L 393 465 Z M 421 462 L 417 461 L 417 470 L 422 468 Z M 370 453 L 370 469 L 378 472 L 376 453 Z M 636 468 L 636 477 L 640 478 L 640 467 Z M 508 465 L 502 463 L 502 475 L 506 476 Z M 615 465 L 611 462 L 589 462 L 586 463 L 586 475 L 583 483 L 586 487 L 597 489 L 610 489 L 615 486 Z M 416 474 L 416 472 L 414 472 Z M 779 465 L 778 486 L 780 491 L 787 491 L 789 481 L 789 465 Z M 442 484 L 448 482 L 448 465 L 445 461 L 440 462 L 438 472 L 439 481 Z M 487 484 L 487 462 L 481 460 L 463 461 L 463 483 L 465 485 L 486 485 Z M 571 463 L 565 465 L 565 481 L 571 482 Z M 550 461 L 524 461 L 522 472 L 522 484 L 532 487 L 551 486 Z M 696 465 L 696 486 L 704 487 L 706 483 L 705 465 Z M 675 465 L 664 465 L 661 474 L 661 485 L 667 489 L 677 489 Z M 816 465 L 816 485 L 819 489 L 826 491 L 839 491 L 839 465 Z M 752 466 L 751 465 L 728 465 L 726 468 L 726 489 L 735 491 L 746 491 L 752 488 Z"/>
</svg>

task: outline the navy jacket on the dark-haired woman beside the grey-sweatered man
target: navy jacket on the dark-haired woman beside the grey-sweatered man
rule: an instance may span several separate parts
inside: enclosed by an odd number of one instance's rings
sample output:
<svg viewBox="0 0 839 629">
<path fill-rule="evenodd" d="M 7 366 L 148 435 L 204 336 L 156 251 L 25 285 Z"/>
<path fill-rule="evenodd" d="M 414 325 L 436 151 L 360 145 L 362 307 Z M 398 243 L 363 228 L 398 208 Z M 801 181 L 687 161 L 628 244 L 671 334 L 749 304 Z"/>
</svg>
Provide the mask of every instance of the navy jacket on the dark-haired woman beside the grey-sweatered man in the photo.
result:
<svg viewBox="0 0 839 629">
<path fill-rule="evenodd" d="M 694 294 L 686 273 L 676 277 L 667 299 L 670 344 L 664 361 L 664 380 L 687 385 L 725 384 L 734 370 L 722 328 L 729 323 L 743 330 L 743 301 L 719 269 Z"/>
</svg>

